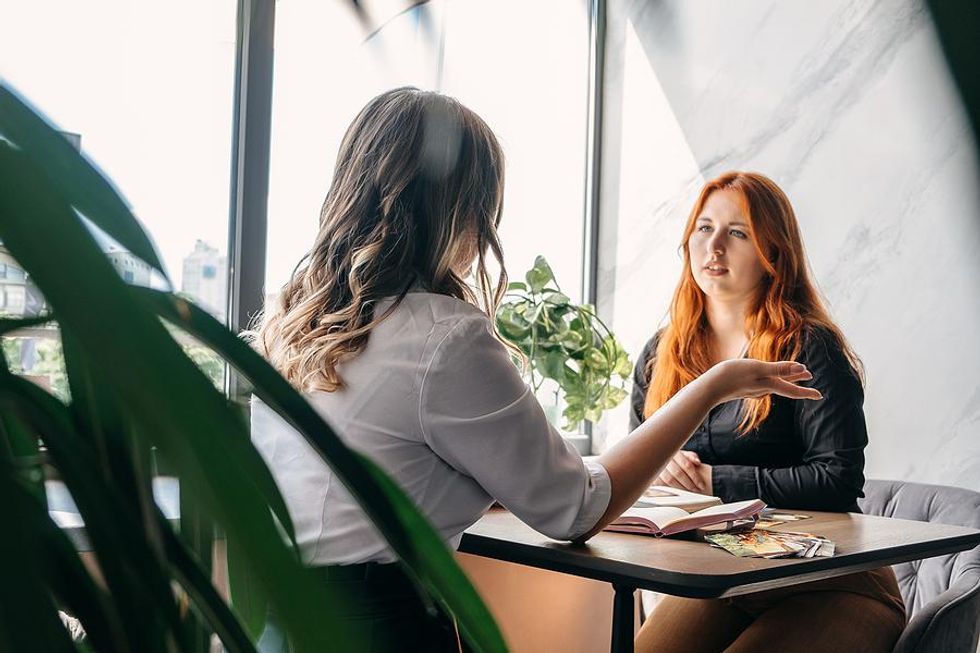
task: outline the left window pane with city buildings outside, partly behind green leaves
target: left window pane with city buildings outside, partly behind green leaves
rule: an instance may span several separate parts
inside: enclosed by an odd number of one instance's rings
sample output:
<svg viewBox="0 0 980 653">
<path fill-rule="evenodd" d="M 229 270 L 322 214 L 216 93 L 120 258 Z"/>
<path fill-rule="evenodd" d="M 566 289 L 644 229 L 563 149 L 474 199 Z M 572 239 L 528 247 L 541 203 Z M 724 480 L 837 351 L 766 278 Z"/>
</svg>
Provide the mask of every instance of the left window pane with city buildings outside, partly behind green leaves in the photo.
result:
<svg viewBox="0 0 980 653">
<path fill-rule="evenodd" d="M 0 22 L 0 76 L 112 179 L 175 290 L 221 320 L 237 5 L 32 0 L 5 3 Z M 96 239 L 127 282 L 163 283 L 111 239 Z M 0 310 L 39 312 L 43 298 L 3 249 L 0 265 Z M 185 346 L 210 360 L 197 345 Z M 61 391 L 56 330 L 19 334 L 4 342 L 4 353 L 18 371 Z M 220 364 L 208 369 L 220 383 Z"/>
</svg>

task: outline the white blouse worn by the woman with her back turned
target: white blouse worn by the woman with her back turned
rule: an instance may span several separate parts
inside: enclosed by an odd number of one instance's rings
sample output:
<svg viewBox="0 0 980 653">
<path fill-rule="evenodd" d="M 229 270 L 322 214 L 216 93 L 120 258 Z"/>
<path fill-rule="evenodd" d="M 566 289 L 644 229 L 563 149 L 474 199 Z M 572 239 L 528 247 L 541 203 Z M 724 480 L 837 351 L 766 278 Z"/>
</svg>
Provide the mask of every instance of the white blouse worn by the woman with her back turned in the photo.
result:
<svg viewBox="0 0 980 653">
<path fill-rule="evenodd" d="M 609 475 L 548 423 L 489 327 L 470 304 L 410 292 L 338 368 L 345 388 L 308 399 L 347 445 L 391 475 L 453 549 L 494 500 L 548 537 L 574 539 L 605 513 Z M 258 399 L 252 440 L 307 564 L 395 560 L 319 455 Z"/>
</svg>

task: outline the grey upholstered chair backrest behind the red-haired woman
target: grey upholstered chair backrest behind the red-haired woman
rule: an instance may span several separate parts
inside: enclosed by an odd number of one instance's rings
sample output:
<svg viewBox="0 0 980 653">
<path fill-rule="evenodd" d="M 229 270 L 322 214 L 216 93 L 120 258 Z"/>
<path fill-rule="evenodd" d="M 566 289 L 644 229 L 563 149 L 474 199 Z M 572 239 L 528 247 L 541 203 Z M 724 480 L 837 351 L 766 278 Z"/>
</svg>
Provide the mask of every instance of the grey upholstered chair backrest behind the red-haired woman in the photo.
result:
<svg viewBox="0 0 980 653">
<path fill-rule="evenodd" d="M 858 501 L 869 515 L 980 529 L 980 492 L 944 485 L 869 480 Z M 911 617 L 969 570 L 980 570 L 980 547 L 894 566 Z"/>
</svg>

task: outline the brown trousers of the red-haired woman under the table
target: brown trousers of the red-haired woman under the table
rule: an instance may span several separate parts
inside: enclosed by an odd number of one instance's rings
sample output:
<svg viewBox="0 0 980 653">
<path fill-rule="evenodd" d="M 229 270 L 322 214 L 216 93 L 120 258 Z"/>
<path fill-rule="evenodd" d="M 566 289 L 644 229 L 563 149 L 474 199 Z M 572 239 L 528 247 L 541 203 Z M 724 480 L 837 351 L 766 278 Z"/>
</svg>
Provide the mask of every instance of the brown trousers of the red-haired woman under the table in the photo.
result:
<svg viewBox="0 0 980 653">
<path fill-rule="evenodd" d="M 663 597 L 637 653 L 887 653 L 905 628 L 890 567 L 730 599 Z"/>
</svg>

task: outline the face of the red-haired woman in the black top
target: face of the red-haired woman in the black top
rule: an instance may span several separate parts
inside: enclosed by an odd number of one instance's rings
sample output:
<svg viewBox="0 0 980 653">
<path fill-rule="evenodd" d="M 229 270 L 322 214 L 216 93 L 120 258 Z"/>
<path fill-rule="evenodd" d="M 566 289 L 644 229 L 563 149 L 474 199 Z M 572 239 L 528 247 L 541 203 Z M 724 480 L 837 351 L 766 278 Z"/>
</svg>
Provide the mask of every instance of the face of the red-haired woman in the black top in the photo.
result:
<svg viewBox="0 0 980 653">
<path fill-rule="evenodd" d="M 734 191 L 711 193 L 687 241 L 695 282 L 718 301 L 750 300 L 766 274 L 739 200 Z"/>
</svg>

